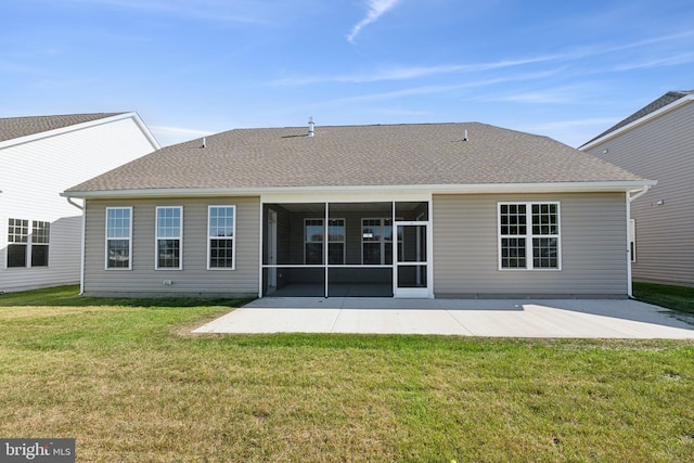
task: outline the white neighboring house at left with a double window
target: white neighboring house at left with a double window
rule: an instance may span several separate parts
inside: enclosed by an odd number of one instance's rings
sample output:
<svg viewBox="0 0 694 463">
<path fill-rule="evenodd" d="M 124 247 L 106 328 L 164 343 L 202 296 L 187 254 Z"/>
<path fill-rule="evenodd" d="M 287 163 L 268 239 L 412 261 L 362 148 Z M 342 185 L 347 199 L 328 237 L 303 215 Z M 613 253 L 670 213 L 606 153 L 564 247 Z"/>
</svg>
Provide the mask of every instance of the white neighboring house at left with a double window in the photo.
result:
<svg viewBox="0 0 694 463">
<path fill-rule="evenodd" d="M 0 293 L 79 282 L 82 214 L 60 193 L 159 147 L 136 113 L 0 119 Z"/>
</svg>

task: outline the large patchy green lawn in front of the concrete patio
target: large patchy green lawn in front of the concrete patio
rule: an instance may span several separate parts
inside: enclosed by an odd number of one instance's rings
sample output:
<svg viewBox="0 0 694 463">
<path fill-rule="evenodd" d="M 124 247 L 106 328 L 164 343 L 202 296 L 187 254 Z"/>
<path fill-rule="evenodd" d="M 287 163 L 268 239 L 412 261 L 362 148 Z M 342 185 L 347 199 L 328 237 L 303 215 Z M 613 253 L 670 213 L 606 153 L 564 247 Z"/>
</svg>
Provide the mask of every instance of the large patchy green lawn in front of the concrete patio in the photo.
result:
<svg viewBox="0 0 694 463">
<path fill-rule="evenodd" d="M 686 462 L 694 343 L 191 336 L 239 301 L 0 296 L 0 437 L 79 462 Z"/>
</svg>

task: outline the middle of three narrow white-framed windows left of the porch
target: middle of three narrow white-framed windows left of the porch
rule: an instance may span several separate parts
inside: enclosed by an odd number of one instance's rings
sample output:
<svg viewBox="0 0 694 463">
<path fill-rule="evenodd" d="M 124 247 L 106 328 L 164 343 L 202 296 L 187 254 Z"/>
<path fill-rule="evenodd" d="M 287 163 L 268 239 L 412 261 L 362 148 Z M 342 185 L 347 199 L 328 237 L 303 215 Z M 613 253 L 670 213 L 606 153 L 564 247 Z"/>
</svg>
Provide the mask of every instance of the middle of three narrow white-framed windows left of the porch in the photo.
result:
<svg viewBox="0 0 694 463">
<path fill-rule="evenodd" d="M 156 208 L 156 269 L 180 270 L 183 268 L 182 249 L 183 208 Z"/>
</svg>

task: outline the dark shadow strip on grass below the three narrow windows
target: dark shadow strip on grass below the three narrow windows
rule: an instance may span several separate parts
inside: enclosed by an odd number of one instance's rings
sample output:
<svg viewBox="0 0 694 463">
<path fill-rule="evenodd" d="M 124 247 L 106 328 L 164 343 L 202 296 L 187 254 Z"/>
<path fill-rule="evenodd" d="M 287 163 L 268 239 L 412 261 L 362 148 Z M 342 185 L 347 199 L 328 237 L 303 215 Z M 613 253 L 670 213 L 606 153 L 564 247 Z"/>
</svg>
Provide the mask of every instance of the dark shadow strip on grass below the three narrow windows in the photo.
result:
<svg viewBox="0 0 694 463">
<path fill-rule="evenodd" d="M 126 298 L 126 297 L 87 297 L 79 295 L 79 286 L 57 286 L 46 290 L 21 293 L 0 294 L 0 307 L 201 307 L 223 306 L 240 307 L 253 298 L 228 297 L 160 297 L 160 298 Z"/>
</svg>

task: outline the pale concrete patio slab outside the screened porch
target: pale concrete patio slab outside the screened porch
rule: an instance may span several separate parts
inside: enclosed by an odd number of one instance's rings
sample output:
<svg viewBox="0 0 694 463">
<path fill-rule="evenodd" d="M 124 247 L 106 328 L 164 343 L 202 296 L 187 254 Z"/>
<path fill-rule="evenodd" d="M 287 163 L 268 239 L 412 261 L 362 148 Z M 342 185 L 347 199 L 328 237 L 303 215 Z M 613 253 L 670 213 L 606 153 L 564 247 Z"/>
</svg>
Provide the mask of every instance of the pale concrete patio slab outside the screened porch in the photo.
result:
<svg viewBox="0 0 694 463">
<path fill-rule="evenodd" d="M 193 333 L 694 338 L 694 317 L 635 300 L 266 297 Z"/>
</svg>

